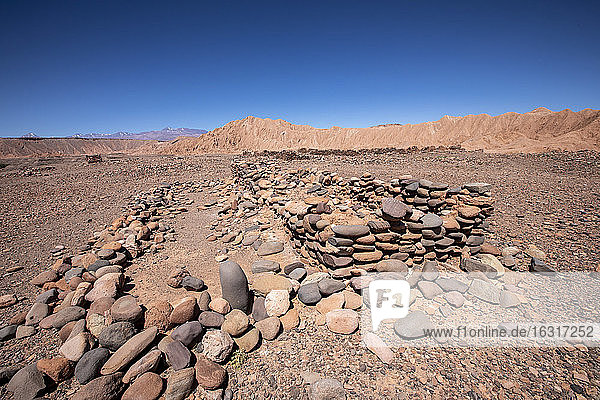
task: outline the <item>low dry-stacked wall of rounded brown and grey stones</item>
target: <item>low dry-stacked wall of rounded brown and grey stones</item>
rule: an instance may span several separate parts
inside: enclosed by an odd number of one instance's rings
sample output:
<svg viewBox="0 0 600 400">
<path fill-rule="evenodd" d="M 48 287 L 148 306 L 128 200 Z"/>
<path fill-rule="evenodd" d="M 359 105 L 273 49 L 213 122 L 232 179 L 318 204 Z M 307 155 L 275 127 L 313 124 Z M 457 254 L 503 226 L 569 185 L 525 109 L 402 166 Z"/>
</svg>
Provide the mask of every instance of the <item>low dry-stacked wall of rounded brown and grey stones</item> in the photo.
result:
<svg viewBox="0 0 600 400">
<path fill-rule="evenodd" d="M 485 183 L 449 188 L 410 175 L 385 182 L 371 174 L 346 179 L 327 171 L 284 173 L 268 161 L 234 163 L 232 170 L 240 186 L 275 199 L 270 206 L 303 256 L 342 276 L 345 269 L 369 270 L 386 258 L 412 266 L 477 254 L 494 210 Z M 277 185 L 266 181 L 277 175 L 295 185 L 300 197 L 292 198 L 283 186 L 281 196 L 273 197 Z"/>
</svg>

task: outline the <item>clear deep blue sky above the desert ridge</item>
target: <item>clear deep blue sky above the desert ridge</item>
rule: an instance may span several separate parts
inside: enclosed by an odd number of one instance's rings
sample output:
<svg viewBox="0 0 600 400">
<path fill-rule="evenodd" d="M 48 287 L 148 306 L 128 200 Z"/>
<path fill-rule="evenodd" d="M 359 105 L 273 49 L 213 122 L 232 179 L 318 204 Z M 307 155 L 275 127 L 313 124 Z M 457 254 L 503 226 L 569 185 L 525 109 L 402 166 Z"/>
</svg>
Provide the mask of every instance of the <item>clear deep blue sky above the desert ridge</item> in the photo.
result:
<svg viewBox="0 0 600 400">
<path fill-rule="evenodd" d="M 574 1 L 2 1 L 0 136 L 600 108 Z"/>
</svg>

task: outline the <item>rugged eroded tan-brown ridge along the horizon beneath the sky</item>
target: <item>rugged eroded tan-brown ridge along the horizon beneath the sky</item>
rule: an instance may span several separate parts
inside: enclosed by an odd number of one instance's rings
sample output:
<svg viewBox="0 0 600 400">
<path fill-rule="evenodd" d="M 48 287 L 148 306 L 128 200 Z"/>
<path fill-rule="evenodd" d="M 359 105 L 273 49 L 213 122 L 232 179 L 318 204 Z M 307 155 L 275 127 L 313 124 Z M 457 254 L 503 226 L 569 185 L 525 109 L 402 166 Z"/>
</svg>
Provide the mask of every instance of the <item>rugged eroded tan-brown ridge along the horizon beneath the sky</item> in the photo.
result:
<svg viewBox="0 0 600 400">
<path fill-rule="evenodd" d="M 242 150 L 450 145 L 490 152 L 600 150 L 600 111 L 552 112 L 540 107 L 524 114 L 509 112 L 495 117 L 487 114 L 444 116 L 438 121 L 414 125 L 330 129 L 250 116 L 229 122 L 198 138 L 179 138 L 169 143 L 145 146 L 143 152 L 199 154 Z"/>
</svg>

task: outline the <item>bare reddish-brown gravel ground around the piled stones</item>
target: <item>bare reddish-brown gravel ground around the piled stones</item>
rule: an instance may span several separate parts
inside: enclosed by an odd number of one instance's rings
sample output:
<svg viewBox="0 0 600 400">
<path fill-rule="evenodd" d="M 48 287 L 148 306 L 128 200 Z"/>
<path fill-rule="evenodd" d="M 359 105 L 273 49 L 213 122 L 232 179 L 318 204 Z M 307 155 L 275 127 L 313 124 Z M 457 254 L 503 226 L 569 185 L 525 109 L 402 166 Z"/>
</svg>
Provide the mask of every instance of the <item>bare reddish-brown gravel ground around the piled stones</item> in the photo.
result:
<svg viewBox="0 0 600 400">
<path fill-rule="evenodd" d="M 74 249 L 119 215 L 127 198 L 162 182 L 230 176 L 231 156 L 111 156 L 88 165 L 82 158 L 4 161 L 0 169 L 0 294 L 21 301 L 0 310 L 0 325 L 28 309 L 39 290 L 29 280 L 52 263 L 56 245 Z M 593 152 L 489 155 L 423 152 L 361 156 L 309 156 L 287 160 L 290 168 L 319 168 L 343 176 L 371 172 L 381 179 L 410 173 L 458 185 L 493 185 L 496 211 L 490 241 L 501 247 L 536 245 L 560 270 L 600 265 L 600 156 Z M 211 194 L 190 193 L 201 205 Z M 173 220 L 178 240 L 130 267 L 134 293 L 144 302 L 183 292 L 164 283 L 173 266 L 185 264 L 218 293 L 218 242 L 206 242 L 211 209 L 191 207 Z M 231 255 L 245 268 L 250 253 Z M 526 268 L 525 260 L 518 260 Z M 22 267 L 16 272 L 7 270 Z M 158 290 L 153 290 L 158 288 Z M 339 379 L 349 398 L 600 398 L 596 349 L 405 349 L 389 366 L 360 347 L 358 335 L 342 337 L 315 322 L 302 308 L 303 323 L 264 343 L 240 366 L 229 366 L 235 398 L 307 398 L 315 378 Z M 0 364 L 24 364 L 55 354 L 57 334 L 0 344 Z M 49 398 L 65 398 L 68 383 Z M 0 389 L 0 397 L 4 391 Z"/>
</svg>

